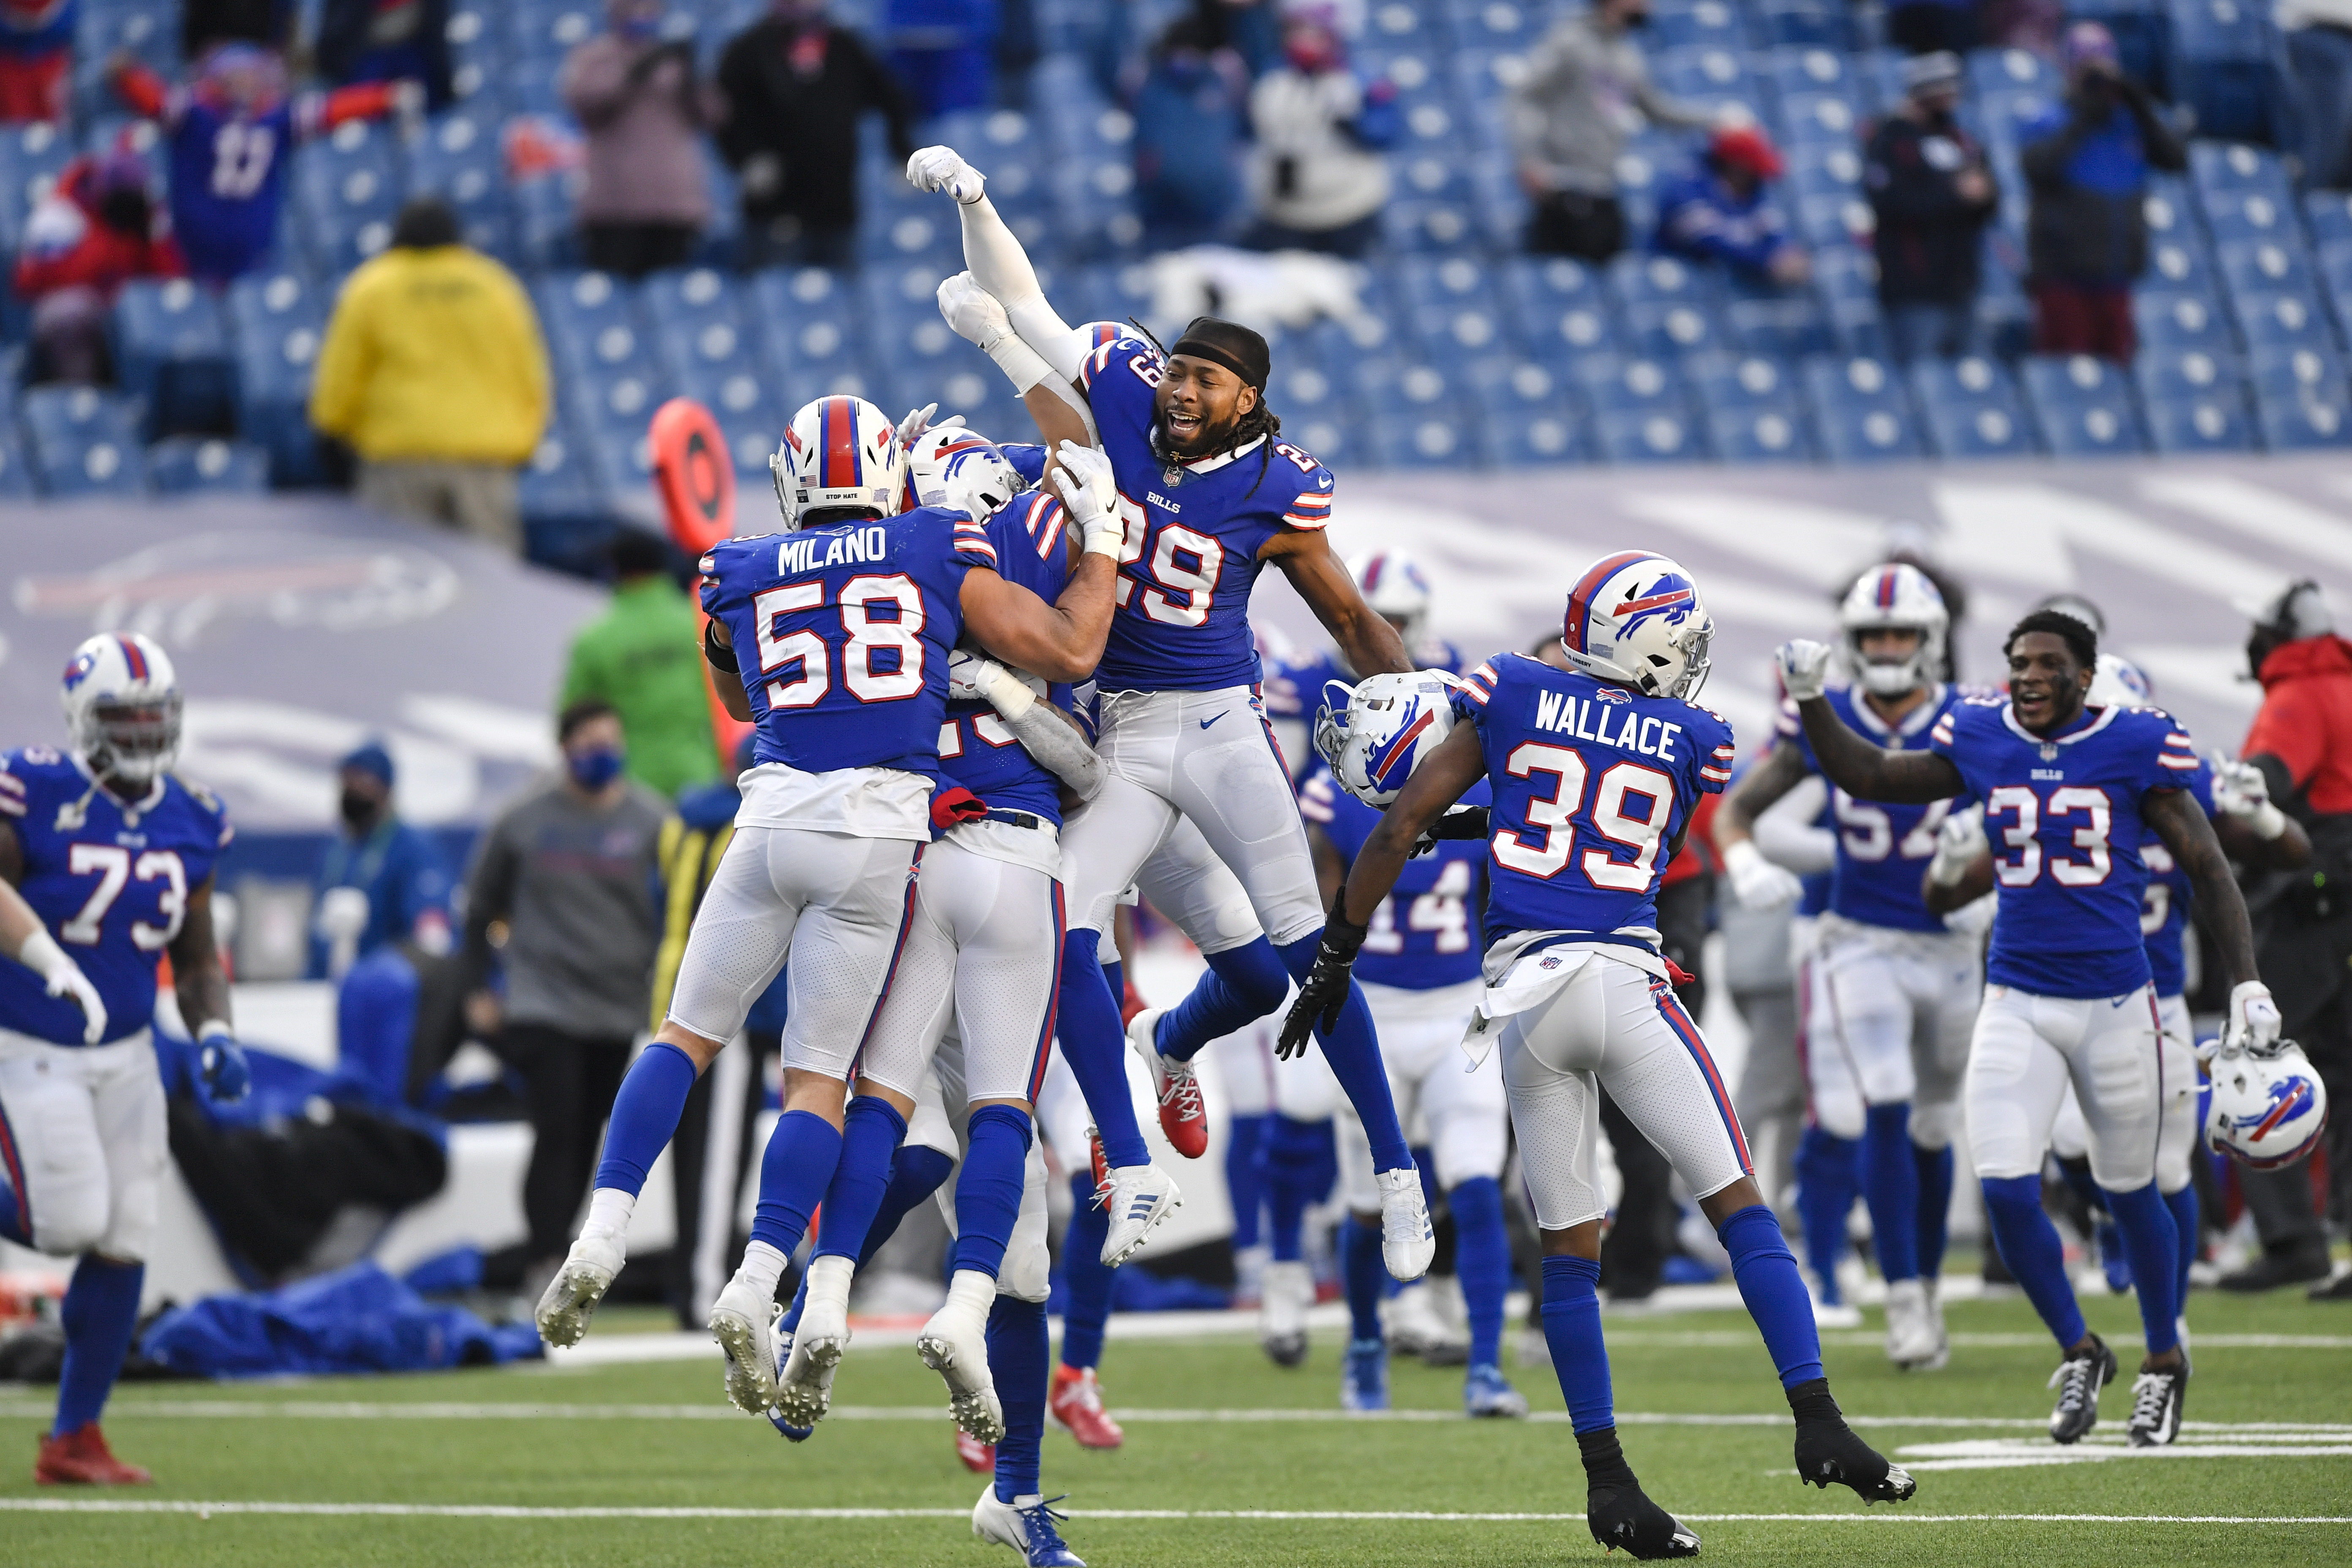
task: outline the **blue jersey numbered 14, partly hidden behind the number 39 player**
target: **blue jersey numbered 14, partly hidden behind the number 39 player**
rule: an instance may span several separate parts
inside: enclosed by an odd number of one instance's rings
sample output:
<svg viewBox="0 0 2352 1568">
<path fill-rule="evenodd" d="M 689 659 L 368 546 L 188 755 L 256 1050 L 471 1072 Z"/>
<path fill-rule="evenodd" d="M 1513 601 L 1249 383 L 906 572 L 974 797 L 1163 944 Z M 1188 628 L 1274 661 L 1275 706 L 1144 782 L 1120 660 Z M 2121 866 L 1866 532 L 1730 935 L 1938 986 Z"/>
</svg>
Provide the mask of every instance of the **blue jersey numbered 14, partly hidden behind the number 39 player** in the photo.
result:
<svg viewBox="0 0 2352 1568">
<path fill-rule="evenodd" d="M 1486 780 L 1470 785 L 1465 806 L 1491 806 Z M 1298 816 L 1322 827 L 1338 853 L 1355 863 L 1381 813 L 1338 788 L 1331 769 L 1317 766 L 1298 790 Z M 1477 839 L 1444 839 L 1432 853 L 1406 860 L 1397 886 L 1371 912 L 1355 978 L 1397 990 L 1437 990 L 1477 980 L 1479 893 L 1486 882 L 1486 846 Z"/>
</svg>

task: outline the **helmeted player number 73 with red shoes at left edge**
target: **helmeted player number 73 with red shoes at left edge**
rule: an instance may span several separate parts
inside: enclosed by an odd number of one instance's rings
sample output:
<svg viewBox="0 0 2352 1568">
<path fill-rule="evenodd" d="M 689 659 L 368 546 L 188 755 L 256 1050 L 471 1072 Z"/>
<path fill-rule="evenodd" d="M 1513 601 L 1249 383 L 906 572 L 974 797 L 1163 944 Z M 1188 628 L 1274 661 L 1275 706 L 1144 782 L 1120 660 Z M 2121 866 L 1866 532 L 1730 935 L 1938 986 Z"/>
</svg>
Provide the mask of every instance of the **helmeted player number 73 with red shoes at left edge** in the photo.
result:
<svg viewBox="0 0 2352 1568">
<path fill-rule="evenodd" d="M 0 1237 L 80 1258 L 66 1286 L 66 1366 L 33 1479 L 139 1483 L 99 1413 L 139 1321 L 167 1157 L 148 1020 L 169 954 L 198 1081 L 242 1100 L 249 1074 L 212 933 L 212 867 L 228 816 L 172 773 L 179 677 L 139 632 L 92 637 L 66 665 L 66 750 L 0 755 Z M 26 929 L 21 910 L 35 922 Z M 71 954 L 71 957 L 68 957 Z"/>
</svg>

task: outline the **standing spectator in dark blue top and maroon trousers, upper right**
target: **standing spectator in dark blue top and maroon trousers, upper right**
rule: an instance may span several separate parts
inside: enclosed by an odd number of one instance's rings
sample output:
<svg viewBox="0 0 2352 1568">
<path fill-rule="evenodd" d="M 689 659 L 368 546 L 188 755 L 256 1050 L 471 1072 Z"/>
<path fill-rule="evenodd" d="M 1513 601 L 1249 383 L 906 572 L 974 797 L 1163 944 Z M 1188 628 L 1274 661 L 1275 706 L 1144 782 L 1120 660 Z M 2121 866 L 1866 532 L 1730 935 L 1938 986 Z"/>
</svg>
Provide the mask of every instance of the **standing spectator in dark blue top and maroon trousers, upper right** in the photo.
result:
<svg viewBox="0 0 2352 1568">
<path fill-rule="evenodd" d="M 2018 134 L 2034 197 L 2025 230 L 2034 353 L 2129 362 L 2131 282 L 2147 266 L 2147 169 L 2185 169 L 2187 150 L 2124 75 L 2107 28 L 2077 21 L 2063 59 L 2065 103 Z"/>
</svg>

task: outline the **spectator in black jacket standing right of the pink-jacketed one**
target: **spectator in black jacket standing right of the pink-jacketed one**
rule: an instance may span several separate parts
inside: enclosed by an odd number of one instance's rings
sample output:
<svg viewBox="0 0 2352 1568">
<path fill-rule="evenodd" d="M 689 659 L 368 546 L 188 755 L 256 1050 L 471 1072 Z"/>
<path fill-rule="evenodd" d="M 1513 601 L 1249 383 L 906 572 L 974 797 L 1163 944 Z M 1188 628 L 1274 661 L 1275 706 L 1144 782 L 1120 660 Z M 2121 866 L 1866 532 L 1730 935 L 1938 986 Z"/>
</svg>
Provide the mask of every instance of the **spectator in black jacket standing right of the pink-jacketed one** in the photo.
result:
<svg viewBox="0 0 2352 1568">
<path fill-rule="evenodd" d="M 858 230 L 858 122 L 915 155 L 906 94 L 873 49 L 826 21 L 826 0 L 771 0 L 720 56 L 720 153 L 743 179 L 743 266 L 847 266 Z"/>
</svg>

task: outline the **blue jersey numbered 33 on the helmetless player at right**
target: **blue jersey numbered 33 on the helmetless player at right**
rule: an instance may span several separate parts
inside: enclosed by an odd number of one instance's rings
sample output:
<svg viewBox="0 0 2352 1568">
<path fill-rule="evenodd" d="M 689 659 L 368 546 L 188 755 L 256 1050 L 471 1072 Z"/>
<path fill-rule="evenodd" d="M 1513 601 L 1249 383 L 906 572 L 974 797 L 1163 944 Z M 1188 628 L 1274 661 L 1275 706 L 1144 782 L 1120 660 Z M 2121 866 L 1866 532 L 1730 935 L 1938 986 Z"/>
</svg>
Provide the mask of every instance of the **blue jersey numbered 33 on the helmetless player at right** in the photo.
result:
<svg viewBox="0 0 2352 1568">
<path fill-rule="evenodd" d="M 2199 762 L 2187 731 L 2157 708 L 2096 708 L 2044 738 L 2016 722 L 2006 696 L 1971 696 L 1936 722 L 1929 745 L 1985 804 L 2002 893 L 1985 978 L 2074 999 L 2147 985 L 2140 797 L 2190 785 Z"/>
</svg>

